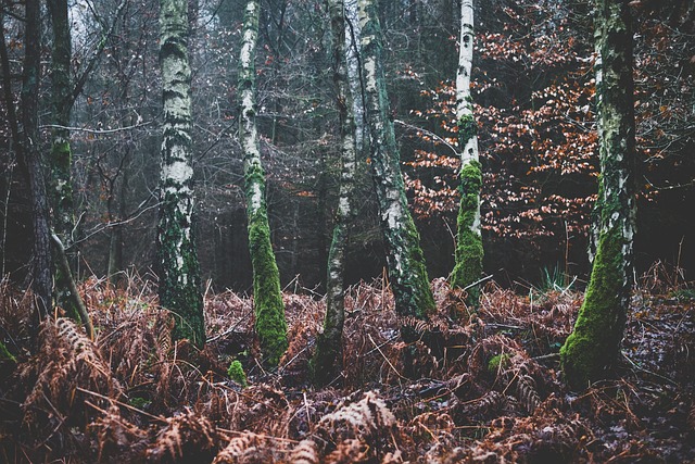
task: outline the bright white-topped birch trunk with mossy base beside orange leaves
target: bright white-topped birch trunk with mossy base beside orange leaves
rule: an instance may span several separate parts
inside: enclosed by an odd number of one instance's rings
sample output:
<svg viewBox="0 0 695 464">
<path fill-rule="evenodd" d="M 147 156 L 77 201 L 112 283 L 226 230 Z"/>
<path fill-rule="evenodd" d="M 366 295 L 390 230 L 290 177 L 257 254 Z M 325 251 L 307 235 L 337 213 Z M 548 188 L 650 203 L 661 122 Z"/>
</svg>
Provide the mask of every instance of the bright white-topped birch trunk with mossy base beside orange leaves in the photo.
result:
<svg viewBox="0 0 695 464">
<path fill-rule="evenodd" d="M 460 150 L 460 204 L 456 221 L 456 263 L 452 286 L 468 287 L 468 304 L 478 306 L 480 288 L 472 286 L 482 275 L 482 235 L 480 230 L 480 188 L 482 171 L 478 155 L 477 123 L 470 97 L 470 71 L 473 58 L 473 2 L 460 4 L 460 39 L 456 73 L 456 123 Z"/>
</svg>

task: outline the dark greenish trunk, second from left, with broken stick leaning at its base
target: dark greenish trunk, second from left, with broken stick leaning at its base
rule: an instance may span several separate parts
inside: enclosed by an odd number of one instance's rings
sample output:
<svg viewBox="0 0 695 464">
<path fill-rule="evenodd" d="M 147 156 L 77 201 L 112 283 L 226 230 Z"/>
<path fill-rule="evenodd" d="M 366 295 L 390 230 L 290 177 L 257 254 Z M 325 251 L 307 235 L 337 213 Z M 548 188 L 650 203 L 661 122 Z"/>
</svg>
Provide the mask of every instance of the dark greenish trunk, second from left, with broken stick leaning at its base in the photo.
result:
<svg viewBox="0 0 695 464">
<path fill-rule="evenodd" d="M 53 210 L 53 231 L 63 243 L 67 262 L 75 266 L 76 254 L 71 250 L 73 243 L 73 228 L 75 227 L 73 212 L 73 176 L 72 152 L 70 147 L 70 126 L 73 108 L 73 88 L 71 84 L 70 66 L 72 43 L 70 22 L 67 17 L 66 0 L 49 0 L 48 10 L 53 29 L 53 49 L 51 58 L 52 85 L 52 121 L 51 138 L 51 204 Z M 62 262 L 61 256 L 55 256 Z M 70 269 L 70 267 L 68 267 Z M 64 275 L 63 266 L 54 268 L 55 303 L 63 308 L 73 318 L 79 321 L 76 296 L 72 294 L 70 281 L 72 276 Z"/>
</svg>

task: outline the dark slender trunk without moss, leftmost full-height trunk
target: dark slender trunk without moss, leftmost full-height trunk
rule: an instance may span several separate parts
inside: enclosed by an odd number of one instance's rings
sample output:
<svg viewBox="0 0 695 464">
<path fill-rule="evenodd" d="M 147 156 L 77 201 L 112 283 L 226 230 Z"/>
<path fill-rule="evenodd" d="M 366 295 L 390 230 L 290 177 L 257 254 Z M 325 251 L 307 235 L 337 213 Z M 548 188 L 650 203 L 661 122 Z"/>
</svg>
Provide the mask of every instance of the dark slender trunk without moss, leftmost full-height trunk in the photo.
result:
<svg viewBox="0 0 695 464">
<path fill-rule="evenodd" d="M 25 54 L 22 79 L 22 143 L 21 154 L 28 172 L 34 211 L 34 260 L 31 263 L 31 290 L 36 299 L 36 319 L 51 312 L 51 233 L 46 195 L 41 152 L 39 150 L 38 102 L 41 72 L 41 17 L 39 0 L 26 0 Z"/>
</svg>

